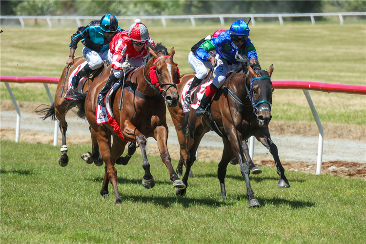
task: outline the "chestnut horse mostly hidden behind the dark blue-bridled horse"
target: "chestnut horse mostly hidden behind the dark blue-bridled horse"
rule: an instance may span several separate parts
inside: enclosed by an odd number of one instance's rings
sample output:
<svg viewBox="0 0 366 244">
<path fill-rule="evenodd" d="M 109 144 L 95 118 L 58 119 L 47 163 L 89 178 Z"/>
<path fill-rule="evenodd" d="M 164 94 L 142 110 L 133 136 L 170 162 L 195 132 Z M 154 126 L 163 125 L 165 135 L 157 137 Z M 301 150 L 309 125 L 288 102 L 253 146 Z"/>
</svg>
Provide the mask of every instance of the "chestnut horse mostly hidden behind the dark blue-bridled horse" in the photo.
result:
<svg viewBox="0 0 366 244">
<path fill-rule="evenodd" d="M 210 72 L 211 72 L 211 70 L 207 74 L 207 77 L 210 76 Z M 180 79 L 181 82 L 177 85 L 177 89 L 178 89 L 178 93 L 180 94 L 182 99 L 185 96 L 185 94 L 182 94 L 185 84 L 188 81 L 191 81 L 194 77 L 195 77 L 195 73 L 186 73 L 181 76 L 181 79 Z M 184 118 L 185 118 L 185 114 L 183 112 L 183 107 L 182 107 L 182 100 L 181 99 L 179 100 L 178 106 L 168 107 L 168 110 L 169 110 L 170 116 L 172 118 L 172 121 L 174 123 L 174 127 L 177 132 L 177 136 L 178 136 L 178 142 L 180 145 L 180 156 L 181 157 L 179 159 L 179 163 L 176 168 L 176 171 L 177 171 L 178 175 L 181 176 L 181 175 L 183 175 L 183 165 L 185 167 L 187 166 L 186 162 L 187 162 L 187 156 L 188 156 L 187 134 L 183 130 L 180 129 L 180 125 L 184 121 Z M 246 162 L 249 165 L 251 173 L 252 174 L 262 173 L 262 170 L 259 167 L 257 167 L 253 163 L 252 159 L 250 158 L 248 145 L 246 144 L 245 141 L 242 142 L 242 147 L 243 147 L 243 151 L 244 151 L 244 156 L 246 157 Z M 244 158 L 244 160 L 245 160 L 245 158 Z M 230 161 L 230 163 L 237 164 L 238 161 L 236 160 L 235 157 L 233 157 L 233 159 Z M 192 170 L 189 171 L 189 177 L 193 177 Z"/>
</svg>

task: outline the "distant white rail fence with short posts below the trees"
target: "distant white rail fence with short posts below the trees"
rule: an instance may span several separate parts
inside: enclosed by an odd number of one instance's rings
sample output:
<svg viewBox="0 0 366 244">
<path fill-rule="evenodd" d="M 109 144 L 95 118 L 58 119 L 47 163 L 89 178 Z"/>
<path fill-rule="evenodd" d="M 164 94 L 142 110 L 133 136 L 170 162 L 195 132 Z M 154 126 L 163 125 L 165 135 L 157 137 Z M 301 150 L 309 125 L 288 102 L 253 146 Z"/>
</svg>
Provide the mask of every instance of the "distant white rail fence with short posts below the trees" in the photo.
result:
<svg viewBox="0 0 366 244">
<path fill-rule="evenodd" d="M 284 24 L 284 17 L 309 17 L 312 24 L 315 24 L 314 17 L 319 16 L 338 16 L 340 24 L 343 25 L 343 16 L 366 16 L 366 12 L 343 12 L 343 13 L 308 13 L 308 14 L 216 14 L 216 15 L 166 15 L 166 16 L 116 16 L 119 20 L 162 20 L 163 27 L 166 27 L 167 19 L 190 19 L 192 26 L 196 26 L 195 19 L 215 19 L 219 18 L 221 25 L 225 24 L 224 18 L 252 18 L 251 23 L 255 25 L 255 18 L 278 18 L 280 25 Z M 21 27 L 25 28 L 24 19 L 45 19 L 48 26 L 52 27 L 51 20 L 75 20 L 78 26 L 81 26 L 80 20 L 99 20 L 101 16 L 0 16 L 0 20 L 17 19 L 20 21 Z"/>
</svg>

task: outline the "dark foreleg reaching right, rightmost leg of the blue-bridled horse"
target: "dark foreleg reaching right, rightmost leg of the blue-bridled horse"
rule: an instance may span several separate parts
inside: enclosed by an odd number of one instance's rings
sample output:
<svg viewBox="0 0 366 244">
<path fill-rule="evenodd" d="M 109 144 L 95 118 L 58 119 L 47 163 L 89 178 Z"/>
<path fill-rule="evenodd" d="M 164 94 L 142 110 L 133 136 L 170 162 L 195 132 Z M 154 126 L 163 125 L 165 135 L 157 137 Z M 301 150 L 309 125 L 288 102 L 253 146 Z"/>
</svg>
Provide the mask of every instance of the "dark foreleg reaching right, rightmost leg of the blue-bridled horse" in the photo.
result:
<svg viewBox="0 0 366 244">
<path fill-rule="evenodd" d="M 288 188 L 290 184 L 285 176 L 285 169 L 281 164 L 280 157 L 278 156 L 278 149 L 275 143 L 272 142 L 270 136 L 263 136 L 259 138 L 259 141 L 268 148 L 269 152 L 272 154 L 273 159 L 276 163 L 277 174 L 280 176 L 277 186 L 281 188 Z"/>
</svg>

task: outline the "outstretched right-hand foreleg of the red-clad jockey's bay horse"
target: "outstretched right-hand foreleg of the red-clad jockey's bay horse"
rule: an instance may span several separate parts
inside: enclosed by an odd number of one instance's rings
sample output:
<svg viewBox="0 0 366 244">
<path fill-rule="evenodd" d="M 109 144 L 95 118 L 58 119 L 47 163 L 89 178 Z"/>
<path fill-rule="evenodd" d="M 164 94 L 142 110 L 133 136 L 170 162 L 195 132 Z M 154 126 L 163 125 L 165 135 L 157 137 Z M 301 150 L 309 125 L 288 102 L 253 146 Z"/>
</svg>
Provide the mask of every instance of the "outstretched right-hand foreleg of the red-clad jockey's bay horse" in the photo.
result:
<svg viewBox="0 0 366 244">
<path fill-rule="evenodd" d="M 165 166 L 168 169 L 170 180 L 173 182 L 173 187 L 184 189 L 185 184 L 181 179 L 179 179 L 177 173 L 173 169 L 170 154 L 168 152 L 168 147 L 166 145 L 166 142 L 168 141 L 167 125 L 165 124 L 163 126 L 157 126 L 154 131 L 154 136 L 156 138 L 156 142 L 158 143 L 160 157 L 162 158 L 163 163 L 165 163 Z"/>
</svg>

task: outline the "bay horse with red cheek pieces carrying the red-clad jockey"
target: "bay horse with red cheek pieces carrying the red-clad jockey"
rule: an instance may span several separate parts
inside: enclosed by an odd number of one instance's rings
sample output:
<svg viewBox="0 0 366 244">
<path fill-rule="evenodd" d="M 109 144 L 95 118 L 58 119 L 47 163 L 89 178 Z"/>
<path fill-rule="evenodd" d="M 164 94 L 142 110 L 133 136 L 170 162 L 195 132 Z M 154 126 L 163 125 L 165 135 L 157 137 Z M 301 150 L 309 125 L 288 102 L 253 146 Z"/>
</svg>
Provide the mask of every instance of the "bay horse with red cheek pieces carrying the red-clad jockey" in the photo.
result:
<svg viewBox="0 0 366 244">
<path fill-rule="evenodd" d="M 109 123 L 97 124 L 96 121 L 97 97 L 108 77 L 101 77 L 94 81 L 87 95 L 75 93 L 75 101 L 72 103 L 78 106 L 78 115 L 81 118 L 86 117 L 88 120 L 92 141 L 93 143 L 97 142 L 105 163 L 101 195 L 108 196 L 108 183 L 111 182 L 116 203 L 122 203 L 122 200 L 117 187 L 117 170 L 114 165 L 115 163 L 127 164 L 125 159 L 121 157 L 127 142 L 137 142 L 140 146 L 142 167 L 145 170 L 142 185 L 145 188 L 152 188 L 155 185 L 146 157 L 146 138 L 148 137 L 153 137 L 157 141 L 160 157 L 168 169 L 173 186 L 180 189 L 185 188 L 182 180 L 173 169 L 166 144 L 168 126 L 165 118 L 165 101 L 169 107 L 174 107 L 179 99 L 176 87 L 179 72 L 173 61 L 174 53 L 174 48 L 168 53 L 166 47 L 161 43 L 158 43 L 154 49 L 150 45 L 149 55 L 145 57 L 143 66 L 129 72 L 124 77 L 125 89 L 122 101 L 122 89 L 117 90 L 114 99 L 112 96 L 111 109 L 114 119 L 109 117 Z M 155 84 L 151 79 L 152 70 L 156 72 L 157 82 Z M 120 102 L 122 102 L 121 110 L 119 110 Z M 113 138 L 112 146 L 111 137 Z M 93 146 L 92 156 L 95 151 L 96 148 Z"/>
</svg>

